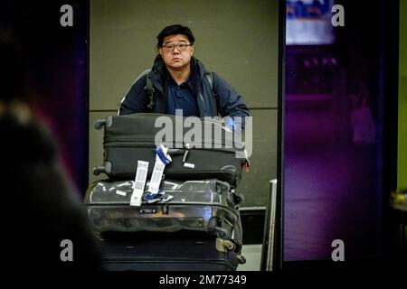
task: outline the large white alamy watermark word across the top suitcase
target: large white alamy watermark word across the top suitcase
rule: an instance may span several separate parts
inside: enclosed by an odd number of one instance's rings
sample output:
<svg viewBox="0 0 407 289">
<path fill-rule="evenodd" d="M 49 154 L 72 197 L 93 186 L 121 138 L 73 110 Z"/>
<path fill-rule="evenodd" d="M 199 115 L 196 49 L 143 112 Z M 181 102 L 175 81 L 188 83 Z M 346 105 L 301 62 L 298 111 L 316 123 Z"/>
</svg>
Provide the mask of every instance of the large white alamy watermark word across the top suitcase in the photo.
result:
<svg viewBox="0 0 407 289">
<path fill-rule="evenodd" d="M 157 117 L 155 127 L 161 128 L 155 135 L 156 145 L 169 149 L 188 144 L 197 149 L 232 149 L 236 158 L 252 154 L 252 117 L 183 117 L 182 109 L 176 109 L 175 117 Z"/>
</svg>

